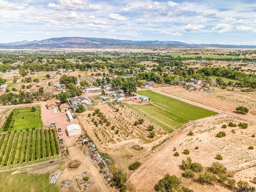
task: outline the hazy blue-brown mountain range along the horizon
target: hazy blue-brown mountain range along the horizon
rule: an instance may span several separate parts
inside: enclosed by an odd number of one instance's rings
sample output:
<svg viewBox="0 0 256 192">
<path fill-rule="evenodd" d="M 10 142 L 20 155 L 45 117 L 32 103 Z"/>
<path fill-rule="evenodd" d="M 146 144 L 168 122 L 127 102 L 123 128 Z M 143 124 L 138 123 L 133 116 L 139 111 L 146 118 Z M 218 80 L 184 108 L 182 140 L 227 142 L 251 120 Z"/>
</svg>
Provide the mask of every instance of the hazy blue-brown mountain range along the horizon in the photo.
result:
<svg viewBox="0 0 256 192">
<path fill-rule="evenodd" d="M 133 41 L 108 38 L 61 37 L 0 44 L 0 48 L 256 48 L 254 45 L 188 44 L 180 41 Z"/>
</svg>

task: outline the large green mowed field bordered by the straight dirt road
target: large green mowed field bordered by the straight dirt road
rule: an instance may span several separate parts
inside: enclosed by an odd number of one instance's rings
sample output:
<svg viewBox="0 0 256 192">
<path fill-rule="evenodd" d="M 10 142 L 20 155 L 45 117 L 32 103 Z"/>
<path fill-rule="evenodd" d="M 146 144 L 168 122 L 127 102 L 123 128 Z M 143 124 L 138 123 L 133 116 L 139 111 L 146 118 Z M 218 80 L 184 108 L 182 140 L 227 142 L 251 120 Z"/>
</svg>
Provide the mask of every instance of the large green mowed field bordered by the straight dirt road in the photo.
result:
<svg viewBox="0 0 256 192">
<path fill-rule="evenodd" d="M 145 116 L 167 132 L 180 128 L 192 119 L 195 120 L 217 114 L 216 112 L 158 94 L 151 90 L 138 91 L 137 93 L 148 96 L 151 102 L 143 105 L 125 105 L 140 115 Z"/>
</svg>

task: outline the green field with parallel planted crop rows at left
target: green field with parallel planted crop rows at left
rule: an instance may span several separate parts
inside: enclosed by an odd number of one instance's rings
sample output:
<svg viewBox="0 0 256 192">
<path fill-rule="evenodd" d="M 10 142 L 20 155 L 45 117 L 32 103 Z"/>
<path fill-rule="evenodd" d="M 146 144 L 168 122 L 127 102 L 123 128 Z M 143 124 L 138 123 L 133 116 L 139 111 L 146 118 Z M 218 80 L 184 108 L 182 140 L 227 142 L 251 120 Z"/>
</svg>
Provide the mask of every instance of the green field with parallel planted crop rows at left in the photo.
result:
<svg viewBox="0 0 256 192">
<path fill-rule="evenodd" d="M 56 159 L 59 155 L 55 129 L 36 129 L 0 135 L 0 170 Z"/>
</svg>

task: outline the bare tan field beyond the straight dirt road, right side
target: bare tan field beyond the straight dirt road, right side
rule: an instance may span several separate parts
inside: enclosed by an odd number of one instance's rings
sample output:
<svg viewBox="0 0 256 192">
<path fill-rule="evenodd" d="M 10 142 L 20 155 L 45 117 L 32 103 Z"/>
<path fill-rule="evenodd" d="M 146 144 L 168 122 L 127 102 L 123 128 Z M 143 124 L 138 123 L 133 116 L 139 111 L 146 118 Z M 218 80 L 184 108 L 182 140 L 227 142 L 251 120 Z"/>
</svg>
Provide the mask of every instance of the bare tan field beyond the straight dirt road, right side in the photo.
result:
<svg viewBox="0 0 256 192">
<path fill-rule="evenodd" d="M 198 86 L 200 88 L 200 86 Z M 162 92 L 166 92 L 181 98 L 192 100 L 207 106 L 214 108 L 235 111 L 238 106 L 245 106 L 249 109 L 249 113 L 246 116 L 256 115 L 256 92 L 240 92 L 223 90 L 218 87 L 214 87 L 214 91 L 189 91 L 183 87 L 169 87 L 161 89 Z"/>
</svg>

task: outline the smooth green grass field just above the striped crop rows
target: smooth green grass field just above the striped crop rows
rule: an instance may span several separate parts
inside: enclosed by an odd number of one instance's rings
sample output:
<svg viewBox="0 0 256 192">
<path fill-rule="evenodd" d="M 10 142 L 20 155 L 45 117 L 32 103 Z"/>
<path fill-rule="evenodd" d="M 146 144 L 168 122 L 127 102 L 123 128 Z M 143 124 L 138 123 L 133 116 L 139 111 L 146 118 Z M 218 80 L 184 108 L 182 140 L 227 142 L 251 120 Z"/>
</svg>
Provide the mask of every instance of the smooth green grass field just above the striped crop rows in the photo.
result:
<svg viewBox="0 0 256 192">
<path fill-rule="evenodd" d="M 36 111 L 32 112 L 32 107 L 15 108 L 10 112 L 1 132 L 20 131 L 32 128 L 41 128 L 43 123 L 41 120 L 41 108 L 35 106 Z"/>
</svg>

